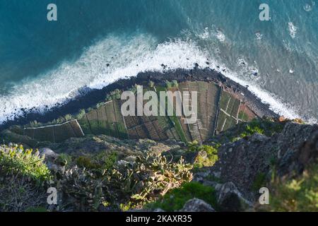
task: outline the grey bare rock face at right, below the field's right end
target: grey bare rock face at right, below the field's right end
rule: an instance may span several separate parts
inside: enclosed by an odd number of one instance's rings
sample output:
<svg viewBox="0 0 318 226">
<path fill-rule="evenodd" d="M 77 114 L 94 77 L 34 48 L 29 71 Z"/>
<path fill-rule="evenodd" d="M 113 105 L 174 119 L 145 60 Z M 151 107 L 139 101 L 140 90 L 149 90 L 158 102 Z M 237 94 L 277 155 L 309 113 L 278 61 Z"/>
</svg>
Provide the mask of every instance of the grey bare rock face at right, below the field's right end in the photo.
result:
<svg viewBox="0 0 318 226">
<path fill-rule="evenodd" d="M 231 134 L 232 133 L 232 134 Z M 228 136 L 237 131 L 228 131 Z M 288 122 L 273 136 L 254 133 L 218 148 L 218 162 L 209 169 L 224 182 L 233 182 L 250 201 L 272 174 L 290 179 L 301 175 L 318 156 L 318 126 Z M 257 184 L 259 183 L 259 184 Z"/>
</svg>

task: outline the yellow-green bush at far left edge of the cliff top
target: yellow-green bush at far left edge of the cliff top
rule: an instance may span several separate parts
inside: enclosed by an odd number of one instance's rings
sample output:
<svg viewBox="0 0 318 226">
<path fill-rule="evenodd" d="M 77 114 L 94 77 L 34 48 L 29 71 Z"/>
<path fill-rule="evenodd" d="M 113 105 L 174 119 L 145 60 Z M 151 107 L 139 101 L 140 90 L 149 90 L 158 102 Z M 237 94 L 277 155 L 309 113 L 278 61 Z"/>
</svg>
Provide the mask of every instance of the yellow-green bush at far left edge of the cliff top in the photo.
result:
<svg viewBox="0 0 318 226">
<path fill-rule="evenodd" d="M 18 145 L 0 146 L 0 212 L 45 205 L 51 178 L 43 158 Z"/>
</svg>

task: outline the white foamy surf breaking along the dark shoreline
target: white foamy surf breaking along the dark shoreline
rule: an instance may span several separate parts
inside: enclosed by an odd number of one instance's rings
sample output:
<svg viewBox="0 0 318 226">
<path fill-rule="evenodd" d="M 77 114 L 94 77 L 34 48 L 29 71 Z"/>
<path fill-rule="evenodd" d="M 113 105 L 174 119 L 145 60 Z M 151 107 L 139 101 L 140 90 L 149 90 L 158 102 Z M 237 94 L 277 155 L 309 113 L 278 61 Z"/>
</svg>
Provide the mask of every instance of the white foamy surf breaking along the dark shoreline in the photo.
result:
<svg viewBox="0 0 318 226">
<path fill-rule="evenodd" d="M 22 109 L 45 112 L 73 97 L 83 86 L 101 89 L 119 78 L 136 76 L 143 71 L 192 69 L 196 63 L 205 66 L 207 58 L 191 41 L 171 40 L 157 44 L 151 35 L 135 35 L 128 39 L 110 35 L 86 49 L 75 62 L 64 62 L 41 78 L 16 85 L 10 94 L 0 97 L 0 123 L 23 114 Z M 209 59 L 211 69 L 220 66 Z M 299 117 L 278 97 L 223 69 L 226 67 L 221 66 L 219 70 L 228 78 L 249 85 L 249 90 L 269 104 L 274 112 L 291 119 Z"/>
</svg>

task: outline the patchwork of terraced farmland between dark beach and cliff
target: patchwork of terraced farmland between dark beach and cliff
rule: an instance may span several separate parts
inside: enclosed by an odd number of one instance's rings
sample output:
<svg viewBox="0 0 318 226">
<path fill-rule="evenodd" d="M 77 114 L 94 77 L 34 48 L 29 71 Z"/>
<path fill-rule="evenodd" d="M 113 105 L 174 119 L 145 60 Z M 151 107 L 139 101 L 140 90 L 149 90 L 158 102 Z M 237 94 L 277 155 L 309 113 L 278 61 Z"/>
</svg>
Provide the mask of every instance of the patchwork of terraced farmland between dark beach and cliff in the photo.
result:
<svg viewBox="0 0 318 226">
<path fill-rule="evenodd" d="M 170 85 L 172 83 L 169 83 Z M 219 85 L 206 81 L 184 81 L 173 83 L 174 86 L 154 85 L 146 88 L 153 90 L 160 96 L 160 91 L 179 91 L 182 97 L 182 115 L 176 115 L 174 102 L 166 100 L 165 107 L 173 106 L 173 115 L 168 116 L 128 116 L 121 112 L 124 100 L 113 99 L 89 109 L 78 121 L 73 120 L 65 124 L 25 129 L 26 136 L 38 141 L 65 141 L 71 137 L 81 137 L 84 134 L 105 134 L 120 139 L 150 138 L 154 141 L 174 139 L 187 143 L 189 141 L 204 142 L 216 133 L 220 133 L 239 121 L 250 121 L 257 117 L 247 105 L 231 93 L 223 90 Z M 145 88 L 145 87 L 144 87 Z M 187 124 L 184 108 L 191 110 L 192 95 L 185 92 L 197 93 L 197 114 L 194 123 Z M 136 98 L 137 104 L 137 98 Z M 143 101 L 143 105 L 146 101 Z M 136 105 L 137 106 L 137 105 Z M 190 107 L 189 107 L 190 106 Z M 158 101 L 158 110 L 160 109 Z"/>
</svg>

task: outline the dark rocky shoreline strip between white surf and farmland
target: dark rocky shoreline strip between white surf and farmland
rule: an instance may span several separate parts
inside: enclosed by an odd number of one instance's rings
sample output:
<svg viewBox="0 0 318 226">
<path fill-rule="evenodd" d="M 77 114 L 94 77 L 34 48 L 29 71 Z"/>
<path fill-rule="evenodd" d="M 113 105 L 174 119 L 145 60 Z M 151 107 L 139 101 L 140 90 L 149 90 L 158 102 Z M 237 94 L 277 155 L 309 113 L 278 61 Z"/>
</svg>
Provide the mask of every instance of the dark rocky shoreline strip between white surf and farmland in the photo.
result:
<svg viewBox="0 0 318 226">
<path fill-rule="evenodd" d="M 278 114 L 269 109 L 268 104 L 261 102 L 261 99 L 251 93 L 248 88 L 232 81 L 230 78 L 223 76 L 222 73 L 212 69 L 198 69 L 195 67 L 191 70 L 177 69 L 173 71 L 156 72 L 156 71 L 146 71 L 141 72 L 135 77 L 122 78 L 110 85 L 105 86 L 101 90 L 91 90 L 89 88 L 81 88 L 78 90 L 79 95 L 74 97 L 63 104 L 59 104 L 52 109 L 49 109 L 45 113 L 38 112 L 25 112 L 23 116 L 17 116 L 14 120 L 9 120 L 0 125 L 0 131 L 8 129 L 8 127 L 13 125 L 25 125 L 30 121 L 38 121 L 45 123 L 47 121 L 52 121 L 58 117 L 64 116 L 66 114 L 77 114 L 81 109 L 88 109 L 89 107 L 94 107 L 98 102 L 105 101 L 107 93 L 112 92 L 112 90 L 126 90 L 131 88 L 132 85 L 148 83 L 151 80 L 155 83 L 164 83 L 165 80 L 176 80 L 180 81 L 211 81 L 223 85 L 224 88 L 230 90 L 230 92 L 235 93 L 235 95 L 244 96 L 244 100 L 247 105 L 252 109 L 252 111 L 257 114 L 258 117 L 279 117 Z M 242 95 L 244 94 L 244 95 Z"/>
</svg>

